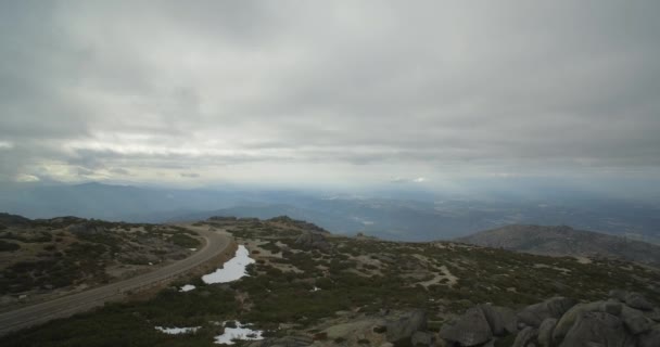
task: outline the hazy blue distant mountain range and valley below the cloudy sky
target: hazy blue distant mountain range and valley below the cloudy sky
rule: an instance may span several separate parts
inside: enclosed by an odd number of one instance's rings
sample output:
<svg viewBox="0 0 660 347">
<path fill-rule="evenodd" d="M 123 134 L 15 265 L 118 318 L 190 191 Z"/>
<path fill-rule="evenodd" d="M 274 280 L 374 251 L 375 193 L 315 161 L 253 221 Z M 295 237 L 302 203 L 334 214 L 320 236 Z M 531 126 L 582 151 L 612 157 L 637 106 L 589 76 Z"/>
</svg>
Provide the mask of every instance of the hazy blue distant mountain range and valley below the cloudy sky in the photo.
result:
<svg viewBox="0 0 660 347">
<path fill-rule="evenodd" d="M 579 192 L 520 196 L 406 191 L 321 192 L 256 187 L 169 189 L 104 183 L 0 184 L 0 211 L 28 218 L 80 216 L 165 222 L 212 216 L 288 215 L 343 234 L 393 241 L 450 240 L 507 224 L 567 224 L 660 243 L 660 201 L 617 201 Z"/>
</svg>

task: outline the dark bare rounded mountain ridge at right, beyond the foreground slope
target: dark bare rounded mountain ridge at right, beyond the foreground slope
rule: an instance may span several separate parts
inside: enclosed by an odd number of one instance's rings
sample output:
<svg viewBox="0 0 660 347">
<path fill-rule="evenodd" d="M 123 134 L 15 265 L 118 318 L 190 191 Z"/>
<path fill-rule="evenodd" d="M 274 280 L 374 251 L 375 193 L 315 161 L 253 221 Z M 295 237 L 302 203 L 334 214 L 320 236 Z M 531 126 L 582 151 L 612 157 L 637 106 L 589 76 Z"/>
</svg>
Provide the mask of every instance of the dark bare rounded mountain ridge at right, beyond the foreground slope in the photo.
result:
<svg viewBox="0 0 660 347">
<path fill-rule="evenodd" d="M 620 258 L 660 266 L 660 246 L 566 226 L 515 224 L 478 232 L 456 241 L 540 255 Z"/>
</svg>

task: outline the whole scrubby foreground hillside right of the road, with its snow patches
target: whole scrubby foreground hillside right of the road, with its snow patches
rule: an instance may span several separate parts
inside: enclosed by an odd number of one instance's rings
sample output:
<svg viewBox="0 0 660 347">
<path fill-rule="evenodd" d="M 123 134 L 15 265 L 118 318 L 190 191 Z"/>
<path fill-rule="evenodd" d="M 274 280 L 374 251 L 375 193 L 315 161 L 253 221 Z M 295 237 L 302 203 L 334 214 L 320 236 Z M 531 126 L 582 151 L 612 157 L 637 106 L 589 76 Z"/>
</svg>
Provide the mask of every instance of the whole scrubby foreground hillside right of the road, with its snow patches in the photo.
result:
<svg viewBox="0 0 660 347">
<path fill-rule="evenodd" d="M 259 340 L 239 340 L 239 346 L 474 346 L 488 340 L 511 346 L 517 336 L 534 333 L 526 327 L 537 332 L 535 320 L 559 319 L 576 303 L 605 300 L 612 293 L 623 293 L 619 307 L 607 307 L 612 312 L 645 308 L 636 320 L 644 324 L 635 325 L 631 338 L 646 338 L 651 320 L 660 320 L 653 310 L 660 303 L 660 272 L 622 260 L 585 262 L 453 242 L 346 237 L 284 217 L 223 217 L 194 226 L 230 233 L 244 247 L 242 257 L 252 259 L 243 262 L 248 275 L 207 283 L 191 274 L 149 300 L 107 305 L 4 336 L 0 345 L 218 346 L 225 344 L 219 336 L 249 327 L 253 332 L 243 337 Z M 182 292 L 185 286 L 192 290 Z M 600 304 L 588 305 L 600 309 Z M 490 308 L 507 317 L 506 332 L 497 324 L 486 327 Z M 512 312 L 522 314 L 520 324 Z M 488 323 L 484 314 L 491 314 Z M 483 327 L 480 343 L 452 345 L 462 340 L 461 326 L 469 326 L 470 334 Z M 570 338 L 580 337 L 575 334 Z M 617 334 L 627 338 L 632 333 Z"/>
</svg>

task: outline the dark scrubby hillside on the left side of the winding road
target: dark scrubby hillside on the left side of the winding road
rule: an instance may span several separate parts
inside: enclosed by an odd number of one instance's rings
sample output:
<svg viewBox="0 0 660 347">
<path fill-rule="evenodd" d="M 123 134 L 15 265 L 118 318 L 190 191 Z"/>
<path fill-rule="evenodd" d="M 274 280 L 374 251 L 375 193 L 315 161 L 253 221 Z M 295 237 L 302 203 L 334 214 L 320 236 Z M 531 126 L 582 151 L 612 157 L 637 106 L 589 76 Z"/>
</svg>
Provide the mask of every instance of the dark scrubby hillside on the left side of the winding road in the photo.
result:
<svg viewBox="0 0 660 347">
<path fill-rule="evenodd" d="M 151 271 L 200 244 L 176 226 L 0 214 L 0 311 Z"/>
</svg>

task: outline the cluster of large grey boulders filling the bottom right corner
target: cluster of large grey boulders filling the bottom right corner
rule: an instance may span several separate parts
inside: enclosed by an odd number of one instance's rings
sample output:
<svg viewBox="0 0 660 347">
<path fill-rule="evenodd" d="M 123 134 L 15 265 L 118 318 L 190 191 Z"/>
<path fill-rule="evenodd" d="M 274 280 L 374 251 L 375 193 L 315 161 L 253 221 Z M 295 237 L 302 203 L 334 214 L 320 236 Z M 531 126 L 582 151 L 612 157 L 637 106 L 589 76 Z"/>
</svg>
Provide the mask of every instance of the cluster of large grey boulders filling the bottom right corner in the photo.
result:
<svg viewBox="0 0 660 347">
<path fill-rule="evenodd" d="M 660 347 L 658 309 L 638 293 L 615 291 L 610 296 L 581 304 L 555 297 L 523 308 L 515 317 L 521 331 L 512 346 Z M 496 335 L 515 333 L 510 327 L 516 320 L 505 317 L 505 310 L 480 305 L 457 323 L 445 324 L 440 336 L 449 346 L 487 346 Z"/>
</svg>

